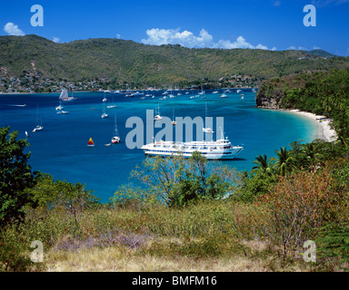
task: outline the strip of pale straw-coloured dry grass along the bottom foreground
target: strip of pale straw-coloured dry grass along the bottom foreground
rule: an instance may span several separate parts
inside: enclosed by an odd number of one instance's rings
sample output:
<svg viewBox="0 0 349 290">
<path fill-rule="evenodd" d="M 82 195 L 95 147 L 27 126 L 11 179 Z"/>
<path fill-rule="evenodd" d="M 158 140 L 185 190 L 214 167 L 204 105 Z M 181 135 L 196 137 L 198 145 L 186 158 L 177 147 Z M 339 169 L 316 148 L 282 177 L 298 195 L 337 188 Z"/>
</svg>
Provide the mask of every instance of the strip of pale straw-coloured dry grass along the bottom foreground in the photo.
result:
<svg viewBox="0 0 349 290">
<path fill-rule="evenodd" d="M 83 249 L 77 252 L 56 251 L 48 254 L 47 271 L 55 272 L 236 272 L 268 271 L 263 261 L 242 256 L 232 258 L 192 259 L 178 256 L 138 256 L 120 247 Z M 271 269 L 269 269 L 270 271 Z"/>
</svg>

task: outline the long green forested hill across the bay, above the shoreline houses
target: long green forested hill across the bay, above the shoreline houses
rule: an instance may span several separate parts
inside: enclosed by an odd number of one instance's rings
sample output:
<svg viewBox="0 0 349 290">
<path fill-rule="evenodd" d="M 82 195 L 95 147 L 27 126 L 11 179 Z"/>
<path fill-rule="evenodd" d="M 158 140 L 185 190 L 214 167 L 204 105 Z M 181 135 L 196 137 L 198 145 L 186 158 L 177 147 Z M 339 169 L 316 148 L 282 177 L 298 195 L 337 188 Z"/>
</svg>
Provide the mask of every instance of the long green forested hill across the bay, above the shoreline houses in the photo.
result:
<svg viewBox="0 0 349 290">
<path fill-rule="evenodd" d="M 325 55 L 325 56 L 324 56 Z M 54 43 L 37 35 L 0 36 L 0 78 L 41 73 L 55 81 L 106 78 L 146 85 L 218 80 L 233 75 L 270 78 L 349 67 L 349 58 L 325 52 L 190 49 L 120 39 Z"/>
</svg>

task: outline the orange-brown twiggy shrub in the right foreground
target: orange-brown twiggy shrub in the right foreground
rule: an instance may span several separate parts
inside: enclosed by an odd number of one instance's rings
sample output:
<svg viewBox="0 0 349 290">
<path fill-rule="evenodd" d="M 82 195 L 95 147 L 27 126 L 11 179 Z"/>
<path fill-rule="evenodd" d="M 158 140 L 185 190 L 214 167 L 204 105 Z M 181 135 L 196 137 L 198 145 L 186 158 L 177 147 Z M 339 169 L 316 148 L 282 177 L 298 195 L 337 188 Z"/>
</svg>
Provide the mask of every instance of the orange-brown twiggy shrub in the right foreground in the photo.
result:
<svg viewBox="0 0 349 290">
<path fill-rule="evenodd" d="M 262 198 L 271 213 L 269 237 L 283 248 L 283 256 L 294 252 L 314 237 L 312 228 L 334 220 L 342 205 L 342 195 L 334 192 L 327 169 L 320 173 L 299 172 L 281 178 Z"/>
</svg>

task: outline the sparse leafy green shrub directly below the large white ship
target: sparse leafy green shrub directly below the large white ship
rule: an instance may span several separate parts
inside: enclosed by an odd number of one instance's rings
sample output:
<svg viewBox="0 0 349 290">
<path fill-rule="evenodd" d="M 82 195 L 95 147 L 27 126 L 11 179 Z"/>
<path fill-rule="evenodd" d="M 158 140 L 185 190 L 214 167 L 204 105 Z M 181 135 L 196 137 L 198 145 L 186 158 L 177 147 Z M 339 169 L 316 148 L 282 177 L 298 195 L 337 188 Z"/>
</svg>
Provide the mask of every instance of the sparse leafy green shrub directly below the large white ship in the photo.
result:
<svg viewBox="0 0 349 290">
<path fill-rule="evenodd" d="M 142 168 L 132 172 L 132 178 L 142 189 L 122 187 L 111 198 L 114 205 L 130 203 L 162 203 L 169 208 L 185 207 L 198 200 L 225 198 L 234 188 L 235 171 L 216 167 L 199 153 L 186 160 L 173 158 L 147 158 Z"/>
</svg>

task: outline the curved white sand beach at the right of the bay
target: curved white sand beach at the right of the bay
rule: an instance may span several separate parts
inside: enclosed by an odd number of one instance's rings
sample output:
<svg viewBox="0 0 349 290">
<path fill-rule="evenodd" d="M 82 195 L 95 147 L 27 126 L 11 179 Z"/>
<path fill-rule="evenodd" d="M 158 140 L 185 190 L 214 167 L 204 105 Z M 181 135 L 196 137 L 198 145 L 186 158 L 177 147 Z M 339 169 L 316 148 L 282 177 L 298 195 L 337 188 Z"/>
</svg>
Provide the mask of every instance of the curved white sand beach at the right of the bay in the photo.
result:
<svg viewBox="0 0 349 290">
<path fill-rule="evenodd" d="M 325 116 L 319 116 L 311 112 L 299 111 L 299 110 L 284 110 L 284 111 L 290 111 L 315 121 L 317 123 L 317 128 L 318 128 L 316 139 L 323 139 L 326 141 L 337 140 L 337 133 L 330 126 L 332 120 L 327 119 Z"/>
</svg>

